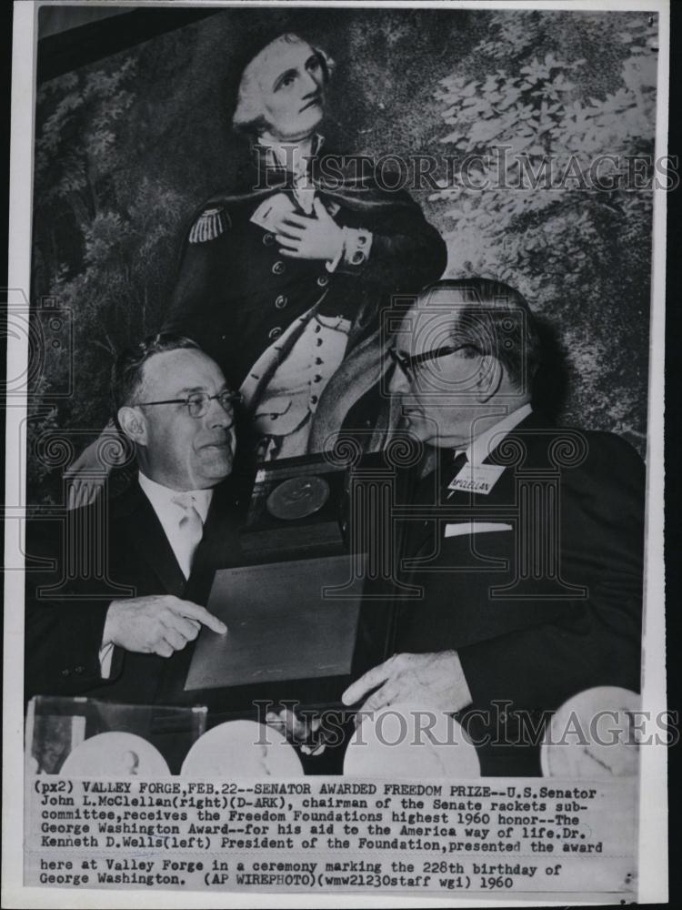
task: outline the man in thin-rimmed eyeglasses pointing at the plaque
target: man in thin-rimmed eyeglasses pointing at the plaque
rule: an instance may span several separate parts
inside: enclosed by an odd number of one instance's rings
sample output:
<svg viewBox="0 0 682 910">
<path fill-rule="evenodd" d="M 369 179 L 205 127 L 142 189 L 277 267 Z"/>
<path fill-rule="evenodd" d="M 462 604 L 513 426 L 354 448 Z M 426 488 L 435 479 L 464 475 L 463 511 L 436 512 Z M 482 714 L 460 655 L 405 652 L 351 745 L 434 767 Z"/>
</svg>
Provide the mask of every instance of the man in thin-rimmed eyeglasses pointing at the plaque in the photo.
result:
<svg viewBox="0 0 682 910">
<path fill-rule="evenodd" d="M 29 531 L 29 558 L 54 563 L 27 576 L 27 696 L 167 701 L 201 627 L 226 632 L 201 603 L 239 553 L 228 480 L 238 398 L 190 339 L 156 335 L 116 360 L 114 417 L 137 478 L 70 511 L 56 545 Z"/>
</svg>

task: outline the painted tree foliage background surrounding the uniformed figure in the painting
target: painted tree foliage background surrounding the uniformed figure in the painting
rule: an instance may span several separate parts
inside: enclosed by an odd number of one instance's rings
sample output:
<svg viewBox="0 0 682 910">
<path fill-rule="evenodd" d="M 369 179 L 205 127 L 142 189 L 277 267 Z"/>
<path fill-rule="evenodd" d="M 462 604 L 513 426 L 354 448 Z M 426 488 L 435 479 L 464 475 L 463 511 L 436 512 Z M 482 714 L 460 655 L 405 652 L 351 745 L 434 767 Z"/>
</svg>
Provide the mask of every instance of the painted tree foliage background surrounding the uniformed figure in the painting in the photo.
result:
<svg viewBox="0 0 682 910">
<path fill-rule="evenodd" d="M 328 146 L 482 157 L 468 174 L 490 178 L 486 189 L 414 191 L 446 237 L 446 274 L 499 277 L 526 294 L 567 356 L 562 419 L 614 430 L 644 454 L 652 196 L 617 181 L 589 189 L 585 175 L 606 154 L 642 157 L 650 176 L 656 17 L 232 9 L 38 86 L 32 295 L 70 311 L 74 342 L 46 349 L 34 382 L 29 445 L 41 455 L 29 457 L 29 500 L 56 500 L 72 457 L 45 457 L 41 440 L 96 435 L 115 352 L 162 321 L 187 219 L 230 185 L 243 153 L 229 121 L 244 47 L 273 30 L 336 60 Z M 507 187 L 496 179 L 503 147 Z M 519 154 L 538 187 L 514 188 Z M 563 188 L 544 187 L 543 161 Z M 55 404 L 68 379 L 73 394 Z"/>
</svg>

